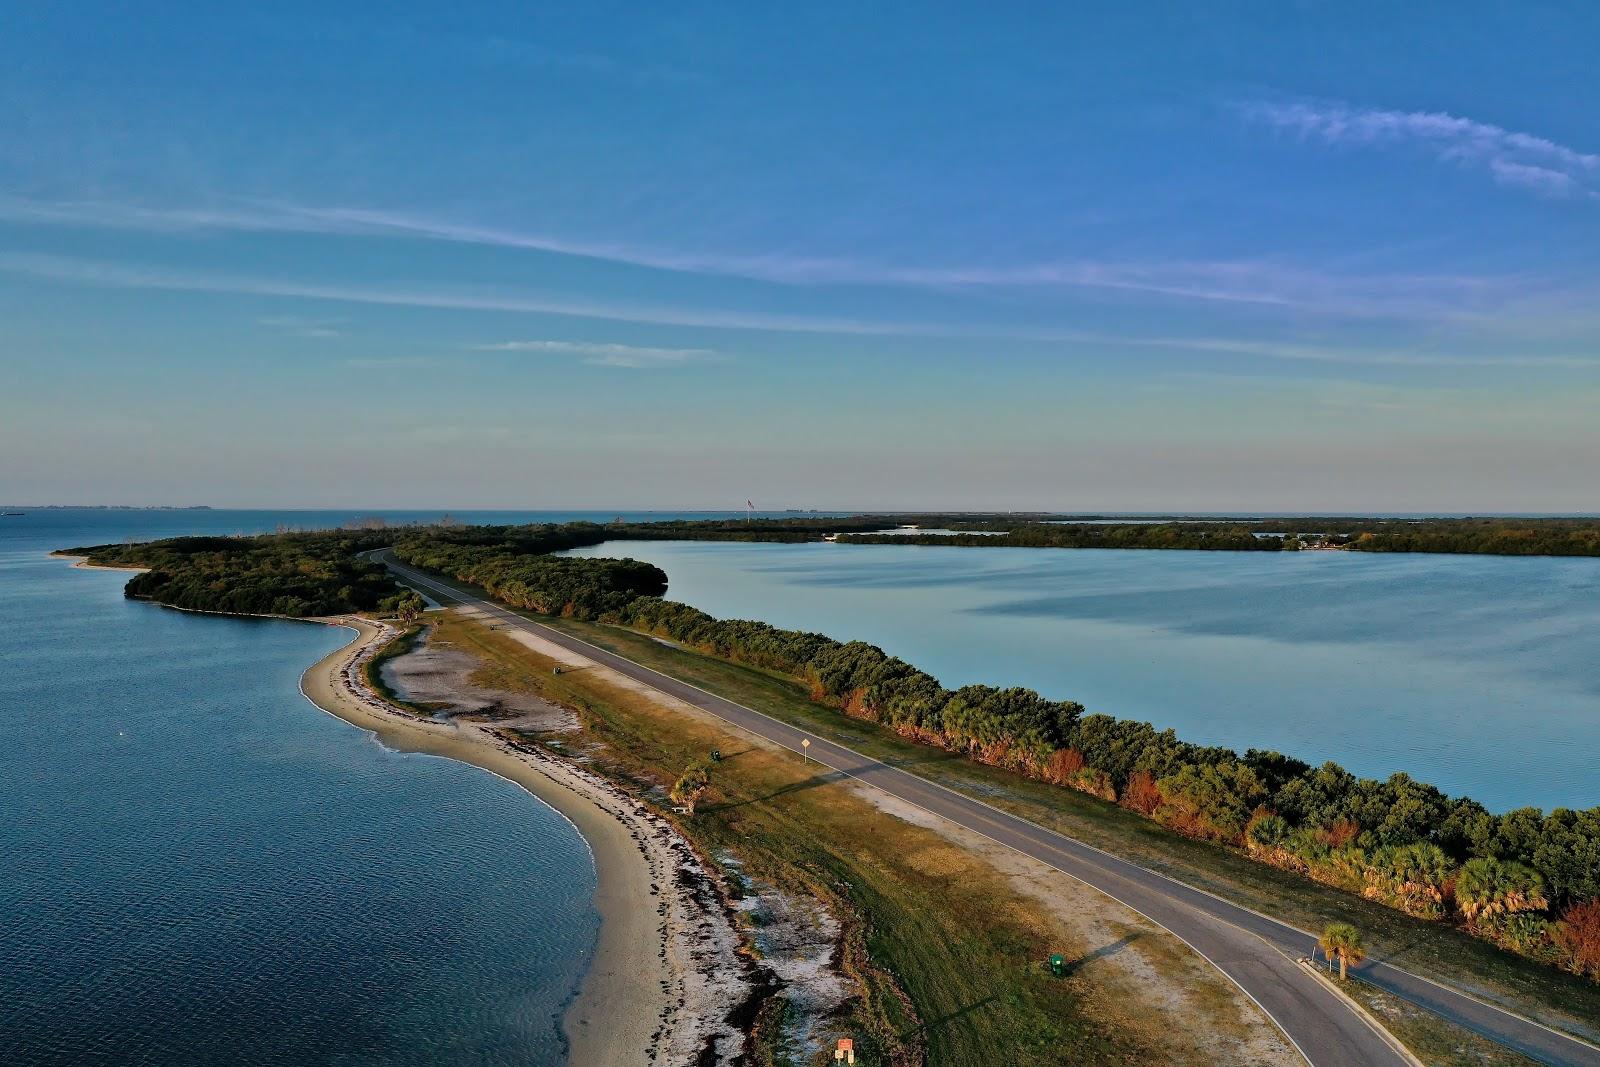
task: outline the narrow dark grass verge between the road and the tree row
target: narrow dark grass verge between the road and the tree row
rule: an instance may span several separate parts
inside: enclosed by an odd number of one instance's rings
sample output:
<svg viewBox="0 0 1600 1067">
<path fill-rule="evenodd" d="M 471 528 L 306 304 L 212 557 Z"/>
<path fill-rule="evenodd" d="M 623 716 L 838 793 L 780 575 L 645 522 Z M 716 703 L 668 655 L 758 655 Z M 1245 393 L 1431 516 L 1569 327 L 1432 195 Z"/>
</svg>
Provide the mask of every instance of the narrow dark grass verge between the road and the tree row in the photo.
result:
<svg viewBox="0 0 1600 1067">
<path fill-rule="evenodd" d="M 1595 1035 L 1600 985 L 1576 976 L 1259 864 L 1242 853 L 1176 835 L 1117 805 L 909 742 L 882 726 L 814 704 L 789 678 L 619 627 L 530 617 L 1304 929 L 1322 929 L 1328 921 L 1352 923 L 1365 934 L 1373 955 L 1549 1025 L 1578 1033 L 1587 1025 L 1590 1038 Z"/>
</svg>

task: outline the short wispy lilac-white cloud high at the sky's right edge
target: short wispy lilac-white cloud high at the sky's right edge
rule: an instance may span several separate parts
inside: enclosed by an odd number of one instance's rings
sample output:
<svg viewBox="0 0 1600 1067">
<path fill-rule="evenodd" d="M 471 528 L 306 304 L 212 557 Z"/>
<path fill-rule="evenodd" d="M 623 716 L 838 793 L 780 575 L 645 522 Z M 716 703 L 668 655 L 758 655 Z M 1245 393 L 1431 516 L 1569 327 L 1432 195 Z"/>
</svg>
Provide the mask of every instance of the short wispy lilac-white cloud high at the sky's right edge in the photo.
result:
<svg viewBox="0 0 1600 1067">
<path fill-rule="evenodd" d="M 1600 198 L 1600 155 L 1446 112 L 1402 112 L 1306 101 L 1250 101 L 1248 118 L 1301 138 L 1346 146 L 1410 146 L 1440 162 L 1486 171 L 1542 195 Z"/>
</svg>

